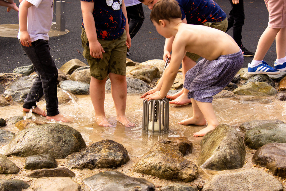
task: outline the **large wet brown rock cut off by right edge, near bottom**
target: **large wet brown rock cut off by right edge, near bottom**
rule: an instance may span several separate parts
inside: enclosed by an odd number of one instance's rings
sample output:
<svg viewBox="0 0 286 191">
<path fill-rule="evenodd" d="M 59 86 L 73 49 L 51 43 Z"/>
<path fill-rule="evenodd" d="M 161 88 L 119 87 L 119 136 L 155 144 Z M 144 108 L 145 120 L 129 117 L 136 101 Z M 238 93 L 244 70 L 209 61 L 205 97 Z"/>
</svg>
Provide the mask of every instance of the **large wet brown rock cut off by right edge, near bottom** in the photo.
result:
<svg viewBox="0 0 286 191">
<path fill-rule="evenodd" d="M 286 178 L 286 144 L 268 143 L 255 151 L 252 162 L 267 169 L 273 175 Z"/>
</svg>

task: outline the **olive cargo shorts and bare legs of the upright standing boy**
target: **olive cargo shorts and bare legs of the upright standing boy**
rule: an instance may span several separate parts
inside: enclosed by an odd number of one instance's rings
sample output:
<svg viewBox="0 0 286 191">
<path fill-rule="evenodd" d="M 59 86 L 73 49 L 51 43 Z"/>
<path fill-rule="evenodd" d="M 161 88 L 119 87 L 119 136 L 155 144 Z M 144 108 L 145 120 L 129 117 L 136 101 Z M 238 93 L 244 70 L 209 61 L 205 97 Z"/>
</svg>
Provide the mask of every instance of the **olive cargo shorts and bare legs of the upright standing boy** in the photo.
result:
<svg viewBox="0 0 286 191">
<path fill-rule="evenodd" d="M 99 126 L 112 126 L 106 119 L 104 111 L 105 83 L 107 75 L 111 81 L 111 93 L 116 110 L 116 120 L 126 127 L 135 126 L 130 122 L 126 115 L 126 32 L 116 40 L 106 41 L 97 39 L 104 49 L 103 58 L 98 59 L 90 55 L 89 42 L 85 30 L 82 28 L 82 47 L 83 56 L 87 59 L 90 66 L 91 82 L 90 96 L 95 110 L 96 122 Z"/>
</svg>

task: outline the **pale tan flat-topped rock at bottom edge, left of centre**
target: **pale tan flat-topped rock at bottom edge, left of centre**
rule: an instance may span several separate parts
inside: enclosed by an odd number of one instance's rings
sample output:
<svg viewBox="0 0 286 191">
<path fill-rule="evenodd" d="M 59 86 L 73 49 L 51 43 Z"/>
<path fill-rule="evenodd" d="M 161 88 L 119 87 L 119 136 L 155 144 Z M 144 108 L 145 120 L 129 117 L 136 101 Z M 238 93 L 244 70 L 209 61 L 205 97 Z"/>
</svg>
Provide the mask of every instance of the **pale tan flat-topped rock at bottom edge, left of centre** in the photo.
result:
<svg viewBox="0 0 286 191">
<path fill-rule="evenodd" d="M 33 191 L 80 191 L 80 185 L 70 177 L 48 177 L 35 180 Z"/>
</svg>

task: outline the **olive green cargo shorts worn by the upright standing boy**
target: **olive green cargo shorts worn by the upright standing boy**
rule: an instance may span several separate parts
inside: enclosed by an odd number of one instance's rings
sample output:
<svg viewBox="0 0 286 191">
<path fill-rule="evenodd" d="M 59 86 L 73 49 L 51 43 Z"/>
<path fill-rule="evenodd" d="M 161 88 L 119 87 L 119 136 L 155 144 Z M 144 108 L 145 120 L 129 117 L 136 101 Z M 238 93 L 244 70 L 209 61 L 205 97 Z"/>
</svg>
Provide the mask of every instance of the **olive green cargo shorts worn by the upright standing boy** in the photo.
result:
<svg viewBox="0 0 286 191">
<path fill-rule="evenodd" d="M 92 77 L 97 80 L 103 80 L 111 72 L 119 75 L 126 75 L 126 31 L 121 37 L 113 41 L 97 39 L 105 53 L 102 53 L 103 58 L 94 58 L 90 55 L 89 42 L 82 27 L 82 55 L 87 59 L 89 70 Z"/>
</svg>

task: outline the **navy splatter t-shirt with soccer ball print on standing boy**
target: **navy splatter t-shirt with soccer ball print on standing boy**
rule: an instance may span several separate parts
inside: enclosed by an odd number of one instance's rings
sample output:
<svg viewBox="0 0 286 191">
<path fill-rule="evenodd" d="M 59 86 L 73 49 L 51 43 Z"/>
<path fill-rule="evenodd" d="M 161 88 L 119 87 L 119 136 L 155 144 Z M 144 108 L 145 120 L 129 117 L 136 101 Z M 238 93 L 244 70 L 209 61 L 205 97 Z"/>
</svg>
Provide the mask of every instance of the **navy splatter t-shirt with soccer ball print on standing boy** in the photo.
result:
<svg viewBox="0 0 286 191">
<path fill-rule="evenodd" d="M 115 40 L 124 32 L 126 18 L 122 12 L 122 0 L 81 0 L 94 3 L 93 17 L 97 38 Z M 84 23 L 82 20 L 82 27 Z"/>
</svg>

